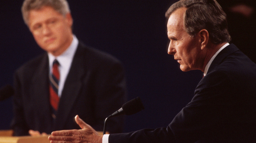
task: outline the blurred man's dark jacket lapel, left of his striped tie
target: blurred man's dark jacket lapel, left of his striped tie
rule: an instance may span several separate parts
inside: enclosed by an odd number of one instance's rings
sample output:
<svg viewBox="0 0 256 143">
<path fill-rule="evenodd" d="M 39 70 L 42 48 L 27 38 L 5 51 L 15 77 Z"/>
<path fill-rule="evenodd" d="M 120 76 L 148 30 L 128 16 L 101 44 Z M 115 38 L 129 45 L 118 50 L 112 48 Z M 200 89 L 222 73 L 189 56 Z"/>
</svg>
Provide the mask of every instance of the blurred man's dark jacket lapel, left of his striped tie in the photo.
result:
<svg viewBox="0 0 256 143">
<path fill-rule="evenodd" d="M 35 110 L 37 115 L 35 118 L 37 120 L 44 120 L 42 122 L 47 123 L 44 126 L 47 126 L 47 130 L 51 130 L 52 121 L 51 121 L 51 110 L 50 110 L 50 102 L 49 102 L 49 60 L 47 54 L 45 54 L 38 63 L 37 70 L 32 77 L 32 85 L 30 95 L 32 96 L 32 104 L 33 107 L 36 107 L 40 110 Z M 44 117 L 44 118 L 42 118 Z"/>
</svg>

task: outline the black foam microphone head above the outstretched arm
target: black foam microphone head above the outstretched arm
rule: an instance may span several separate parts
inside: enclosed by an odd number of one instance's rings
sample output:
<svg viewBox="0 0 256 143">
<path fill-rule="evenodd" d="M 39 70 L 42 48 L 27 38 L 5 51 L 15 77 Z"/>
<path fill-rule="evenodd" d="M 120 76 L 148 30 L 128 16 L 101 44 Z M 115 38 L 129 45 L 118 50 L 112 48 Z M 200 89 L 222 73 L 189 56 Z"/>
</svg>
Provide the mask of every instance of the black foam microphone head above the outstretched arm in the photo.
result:
<svg viewBox="0 0 256 143">
<path fill-rule="evenodd" d="M 122 105 L 125 115 L 132 115 L 144 109 L 139 97 L 130 100 Z"/>
</svg>

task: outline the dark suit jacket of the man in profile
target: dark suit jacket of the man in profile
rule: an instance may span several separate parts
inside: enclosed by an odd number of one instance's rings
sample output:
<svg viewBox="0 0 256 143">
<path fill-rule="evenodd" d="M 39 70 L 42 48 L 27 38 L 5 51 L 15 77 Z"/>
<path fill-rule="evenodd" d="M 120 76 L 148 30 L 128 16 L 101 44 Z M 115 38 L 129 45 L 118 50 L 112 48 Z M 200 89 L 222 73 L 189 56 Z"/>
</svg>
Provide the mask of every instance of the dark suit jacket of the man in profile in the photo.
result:
<svg viewBox="0 0 256 143">
<path fill-rule="evenodd" d="M 256 142 L 255 126 L 256 64 L 230 44 L 166 128 L 111 134 L 109 143 Z"/>
</svg>

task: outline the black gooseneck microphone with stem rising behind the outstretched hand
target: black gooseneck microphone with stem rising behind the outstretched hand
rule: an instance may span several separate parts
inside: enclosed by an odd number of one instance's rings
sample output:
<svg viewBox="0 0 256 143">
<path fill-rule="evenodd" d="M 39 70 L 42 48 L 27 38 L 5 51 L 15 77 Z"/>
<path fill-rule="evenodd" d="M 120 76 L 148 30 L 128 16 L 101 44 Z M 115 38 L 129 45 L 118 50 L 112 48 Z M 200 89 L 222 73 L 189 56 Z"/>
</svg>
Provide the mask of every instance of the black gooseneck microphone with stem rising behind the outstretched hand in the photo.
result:
<svg viewBox="0 0 256 143">
<path fill-rule="evenodd" d="M 104 128 L 103 128 L 103 135 L 106 134 L 105 126 L 107 124 L 107 122 L 106 122 L 107 119 L 109 119 L 111 117 L 116 117 L 116 116 L 119 116 L 119 115 L 122 115 L 122 114 L 132 115 L 132 114 L 135 114 L 135 113 L 137 113 L 137 112 L 139 112 L 143 109 L 144 109 L 144 106 L 143 106 L 139 97 L 124 103 L 119 110 L 117 110 L 116 112 L 114 112 L 112 115 L 110 115 L 109 117 L 107 117 L 105 119 Z"/>
</svg>

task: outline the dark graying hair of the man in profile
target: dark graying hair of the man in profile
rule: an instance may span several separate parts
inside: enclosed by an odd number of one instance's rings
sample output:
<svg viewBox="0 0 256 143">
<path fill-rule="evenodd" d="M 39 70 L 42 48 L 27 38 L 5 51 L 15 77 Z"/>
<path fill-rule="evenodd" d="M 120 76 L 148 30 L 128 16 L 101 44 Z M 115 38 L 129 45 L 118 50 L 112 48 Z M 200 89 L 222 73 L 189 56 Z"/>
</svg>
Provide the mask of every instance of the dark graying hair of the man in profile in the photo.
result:
<svg viewBox="0 0 256 143">
<path fill-rule="evenodd" d="M 185 7 L 184 26 L 186 32 L 195 36 L 200 30 L 209 32 L 211 42 L 220 44 L 229 42 L 226 14 L 216 0 L 180 0 L 166 11 L 169 18 L 176 9 Z"/>
</svg>

